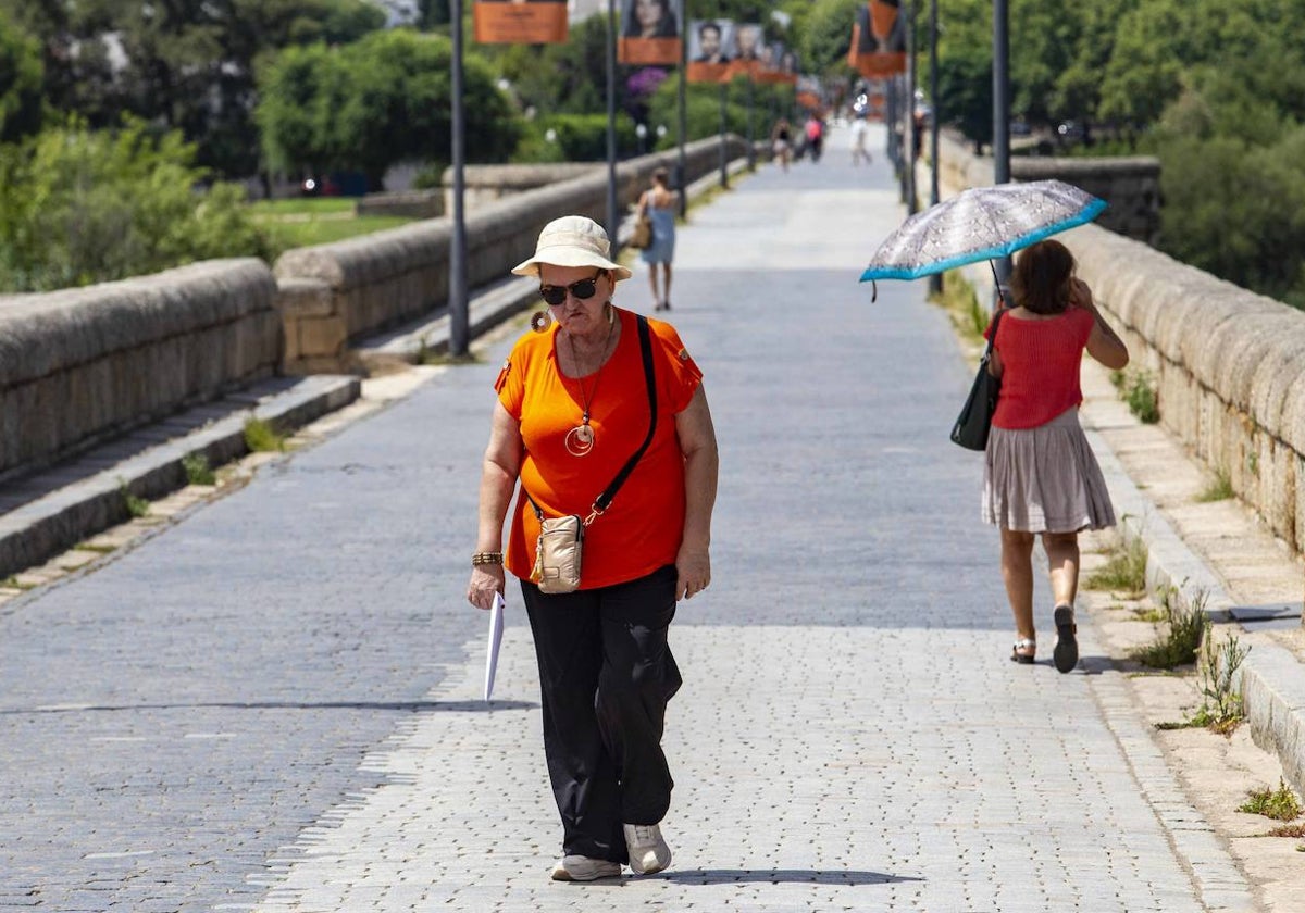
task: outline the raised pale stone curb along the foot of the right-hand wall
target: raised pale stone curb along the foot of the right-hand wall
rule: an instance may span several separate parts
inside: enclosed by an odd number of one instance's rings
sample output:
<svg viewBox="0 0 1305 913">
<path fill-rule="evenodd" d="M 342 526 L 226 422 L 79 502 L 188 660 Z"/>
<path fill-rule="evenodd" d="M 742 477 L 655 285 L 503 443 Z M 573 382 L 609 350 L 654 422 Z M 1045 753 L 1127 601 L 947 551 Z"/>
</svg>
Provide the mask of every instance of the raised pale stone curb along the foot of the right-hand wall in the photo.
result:
<svg viewBox="0 0 1305 913">
<path fill-rule="evenodd" d="M 1235 601 L 1218 575 L 1190 549 L 1129 479 L 1118 459 L 1096 432 L 1088 442 L 1101 464 L 1120 532 L 1126 541 L 1147 546 L 1147 588 L 1172 588 L 1185 605 L 1206 600 L 1206 612 L 1218 622 L 1232 622 Z M 1241 691 L 1246 723 L 1255 743 L 1272 751 L 1297 793 L 1305 792 L 1305 676 L 1300 661 L 1272 643 L 1257 643 L 1241 664 Z"/>
</svg>

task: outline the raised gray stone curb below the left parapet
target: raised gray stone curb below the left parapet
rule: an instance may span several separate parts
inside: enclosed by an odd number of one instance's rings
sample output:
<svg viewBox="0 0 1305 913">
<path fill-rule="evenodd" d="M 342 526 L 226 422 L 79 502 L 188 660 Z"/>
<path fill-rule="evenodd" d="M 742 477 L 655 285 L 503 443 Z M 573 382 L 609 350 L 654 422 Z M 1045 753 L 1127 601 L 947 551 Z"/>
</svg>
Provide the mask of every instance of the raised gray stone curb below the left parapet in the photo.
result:
<svg viewBox="0 0 1305 913">
<path fill-rule="evenodd" d="M 244 455 L 249 417 L 288 430 L 347 406 L 360 394 L 356 377 L 273 378 L 25 480 L 23 486 L 48 493 L 0 516 L 0 576 L 48 561 L 128 519 L 124 488 L 136 497 L 157 498 L 184 486 L 181 460 L 187 456 L 202 455 L 210 466 L 219 466 Z"/>
</svg>

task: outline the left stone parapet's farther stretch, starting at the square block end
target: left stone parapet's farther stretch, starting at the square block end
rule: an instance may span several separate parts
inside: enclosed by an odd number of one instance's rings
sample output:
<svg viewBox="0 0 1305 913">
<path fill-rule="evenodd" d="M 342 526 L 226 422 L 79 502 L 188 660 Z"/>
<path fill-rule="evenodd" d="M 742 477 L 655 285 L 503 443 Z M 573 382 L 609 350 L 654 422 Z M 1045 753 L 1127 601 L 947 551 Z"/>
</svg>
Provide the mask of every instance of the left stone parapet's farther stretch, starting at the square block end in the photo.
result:
<svg viewBox="0 0 1305 913">
<path fill-rule="evenodd" d="M 719 166 L 719 140 L 686 150 L 688 180 Z M 731 157 L 746 153 L 729 137 Z M 622 162 L 620 207 L 638 198 L 675 153 Z M 548 166 L 547 168 L 552 168 Z M 607 218 L 607 170 L 582 166 L 569 180 L 522 190 L 466 215 L 467 284 L 496 282 L 535 249 L 539 230 L 562 214 Z M 449 219 L 419 222 L 333 244 L 287 250 L 274 273 L 281 286 L 287 372 L 338 370 L 350 340 L 415 320 L 445 305 L 449 288 Z"/>
</svg>

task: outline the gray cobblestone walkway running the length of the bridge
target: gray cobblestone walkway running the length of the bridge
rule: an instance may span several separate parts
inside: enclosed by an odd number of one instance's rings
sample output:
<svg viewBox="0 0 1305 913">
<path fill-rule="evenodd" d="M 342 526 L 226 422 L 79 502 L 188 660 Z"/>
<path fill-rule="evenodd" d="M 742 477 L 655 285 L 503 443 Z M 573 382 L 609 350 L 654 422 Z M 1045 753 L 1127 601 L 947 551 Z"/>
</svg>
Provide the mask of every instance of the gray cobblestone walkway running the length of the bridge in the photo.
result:
<svg viewBox="0 0 1305 913">
<path fill-rule="evenodd" d="M 681 231 L 669 318 L 706 372 L 714 583 L 680 606 L 671 871 L 547 880 L 519 595 L 496 700 L 467 608 L 510 340 L 67 584 L 0 609 L 0 909 L 1254 909 L 1082 618 L 1006 660 L 968 385 L 900 219 L 843 137 Z M 646 274 L 619 304 L 647 310 Z M 1039 622 L 1051 644 L 1049 600 Z"/>
</svg>

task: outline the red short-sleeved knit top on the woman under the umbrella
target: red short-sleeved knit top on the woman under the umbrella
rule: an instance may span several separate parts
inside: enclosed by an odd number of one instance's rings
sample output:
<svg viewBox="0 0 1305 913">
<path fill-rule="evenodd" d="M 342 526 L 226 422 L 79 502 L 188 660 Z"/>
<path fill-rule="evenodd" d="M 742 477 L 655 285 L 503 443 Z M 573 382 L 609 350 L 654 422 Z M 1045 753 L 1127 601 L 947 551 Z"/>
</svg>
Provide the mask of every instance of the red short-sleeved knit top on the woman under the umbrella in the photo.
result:
<svg viewBox="0 0 1305 913">
<path fill-rule="evenodd" d="M 1096 318 L 1081 308 L 1045 320 L 1005 314 L 993 348 L 1001 355 L 1001 395 L 992 424 L 1037 428 L 1083 402 L 1078 373 Z M 992 325 L 984 331 L 987 337 Z"/>
</svg>

